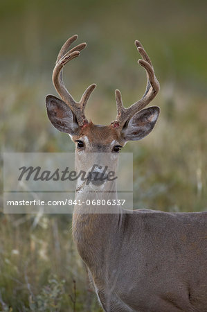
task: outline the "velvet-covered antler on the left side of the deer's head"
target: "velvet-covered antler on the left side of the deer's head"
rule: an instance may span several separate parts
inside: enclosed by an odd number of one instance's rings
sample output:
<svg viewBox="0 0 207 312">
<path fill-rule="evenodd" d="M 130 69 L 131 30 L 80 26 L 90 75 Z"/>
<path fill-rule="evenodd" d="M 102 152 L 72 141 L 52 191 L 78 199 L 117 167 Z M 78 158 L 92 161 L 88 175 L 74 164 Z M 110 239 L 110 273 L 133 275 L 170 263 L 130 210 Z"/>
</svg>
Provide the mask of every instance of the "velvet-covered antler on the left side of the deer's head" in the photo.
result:
<svg viewBox="0 0 207 312">
<path fill-rule="evenodd" d="M 60 49 L 60 52 L 57 55 L 55 68 L 53 70 L 53 85 L 55 86 L 55 89 L 57 90 L 57 93 L 60 95 L 62 100 L 71 108 L 73 114 L 78 121 L 78 125 L 82 126 L 88 123 L 84 115 L 84 109 L 87 105 L 87 101 L 89 100 L 91 93 L 93 92 L 93 89 L 96 88 L 96 85 L 93 84 L 87 87 L 84 94 L 82 94 L 80 102 L 76 102 L 73 96 L 71 96 L 71 94 L 66 89 L 62 80 L 62 69 L 64 65 L 70 60 L 73 60 L 73 58 L 77 58 L 78 55 L 80 55 L 80 51 L 87 46 L 86 43 L 82 43 L 69 50 L 69 47 L 77 38 L 78 35 L 73 35 L 73 37 L 69 38 Z"/>
</svg>

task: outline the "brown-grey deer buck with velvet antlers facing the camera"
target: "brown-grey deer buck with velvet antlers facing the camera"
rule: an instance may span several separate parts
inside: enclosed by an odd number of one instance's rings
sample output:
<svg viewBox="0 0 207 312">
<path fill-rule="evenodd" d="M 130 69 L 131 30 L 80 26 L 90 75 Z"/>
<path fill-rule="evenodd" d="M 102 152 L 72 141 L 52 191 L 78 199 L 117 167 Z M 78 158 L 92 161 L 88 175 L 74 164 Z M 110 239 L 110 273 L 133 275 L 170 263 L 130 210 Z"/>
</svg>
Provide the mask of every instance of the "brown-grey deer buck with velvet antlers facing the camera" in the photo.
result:
<svg viewBox="0 0 207 312">
<path fill-rule="evenodd" d="M 159 107 L 143 108 L 159 92 L 152 62 L 140 42 L 135 44 L 147 71 L 143 98 L 129 108 L 116 90 L 117 116 L 110 125 L 88 122 L 84 108 L 96 85 L 76 102 L 62 80 L 64 65 L 80 55 L 86 44 L 70 49 L 77 35 L 62 46 L 53 71 L 53 84 L 61 100 L 46 97 L 48 118 L 75 142 L 75 166 L 80 168 L 91 152 L 109 153 L 113 164 L 127 141 L 148 135 Z M 168 153 L 168 152 L 166 152 Z M 105 193 L 105 183 L 78 182 L 76 198 L 87 200 Z M 92 185 L 92 186 L 91 186 Z M 109 197 L 116 199 L 116 182 Z M 95 194 L 95 195 L 94 195 Z M 104 196 L 104 195 L 103 195 Z M 97 207 L 96 207 L 97 208 Z M 102 207 L 103 208 L 103 207 Z M 91 209 L 91 210 L 90 210 Z M 94 207 L 75 206 L 73 238 L 86 263 L 98 300 L 105 311 L 178 312 L 207 311 L 207 212 L 167 213 L 115 205 L 105 214 Z"/>
</svg>

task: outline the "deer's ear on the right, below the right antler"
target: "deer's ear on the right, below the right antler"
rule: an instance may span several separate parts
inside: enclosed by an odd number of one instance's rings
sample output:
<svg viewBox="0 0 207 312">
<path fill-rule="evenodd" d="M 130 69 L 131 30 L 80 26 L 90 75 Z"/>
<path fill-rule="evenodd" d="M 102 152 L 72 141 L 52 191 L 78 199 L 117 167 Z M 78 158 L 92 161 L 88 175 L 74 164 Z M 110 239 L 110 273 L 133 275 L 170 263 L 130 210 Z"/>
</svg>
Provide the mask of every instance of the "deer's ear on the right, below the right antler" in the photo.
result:
<svg viewBox="0 0 207 312">
<path fill-rule="evenodd" d="M 149 135 L 158 119 L 158 106 L 148 107 L 136 113 L 123 127 L 122 135 L 125 141 L 138 141 Z"/>
</svg>

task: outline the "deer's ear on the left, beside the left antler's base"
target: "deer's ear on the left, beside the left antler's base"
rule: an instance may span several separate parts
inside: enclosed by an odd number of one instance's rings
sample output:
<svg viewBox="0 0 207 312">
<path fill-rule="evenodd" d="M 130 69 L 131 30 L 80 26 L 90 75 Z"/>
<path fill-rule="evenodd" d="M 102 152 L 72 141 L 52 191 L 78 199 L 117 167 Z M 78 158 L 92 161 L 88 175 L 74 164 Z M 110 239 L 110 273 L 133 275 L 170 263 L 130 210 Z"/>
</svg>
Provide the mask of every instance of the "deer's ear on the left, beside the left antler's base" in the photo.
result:
<svg viewBox="0 0 207 312">
<path fill-rule="evenodd" d="M 69 105 L 56 96 L 46 96 L 46 109 L 48 119 L 53 123 L 54 127 L 70 135 L 77 135 L 80 131 L 75 115 L 71 111 Z"/>
</svg>

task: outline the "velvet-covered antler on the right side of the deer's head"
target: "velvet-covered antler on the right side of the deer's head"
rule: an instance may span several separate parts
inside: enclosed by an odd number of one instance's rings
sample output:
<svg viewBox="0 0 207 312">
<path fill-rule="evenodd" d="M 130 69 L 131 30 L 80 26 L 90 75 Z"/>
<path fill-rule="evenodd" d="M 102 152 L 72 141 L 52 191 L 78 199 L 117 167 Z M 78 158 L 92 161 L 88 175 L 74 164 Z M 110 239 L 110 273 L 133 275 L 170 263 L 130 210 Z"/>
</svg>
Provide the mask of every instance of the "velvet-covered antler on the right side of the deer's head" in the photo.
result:
<svg viewBox="0 0 207 312">
<path fill-rule="evenodd" d="M 142 67 L 145 68 L 147 72 L 147 87 L 145 94 L 141 98 L 141 100 L 137 101 L 136 103 L 132 104 L 129 108 L 125 108 L 123 106 L 122 96 L 119 90 L 116 90 L 116 107 L 117 107 L 117 116 L 116 120 L 111 122 L 111 125 L 114 128 L 119 128 L 125 124 L 127 120 L 132 118 L 134 114 L 138 111 L 142 110 L 143 107 L 147 106 L 156 94 L 159 92 L 159 82 L 156 79 L 154 74 L 154 69 L 152 66 L 152 62 L 145 52 L 141 42 L 136 40 L 135 45 L 138 49 L 138 52 L 141 54 L 143 60 L 138 60 L 138 63 L 141 64 Z"/>
</svg>

